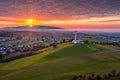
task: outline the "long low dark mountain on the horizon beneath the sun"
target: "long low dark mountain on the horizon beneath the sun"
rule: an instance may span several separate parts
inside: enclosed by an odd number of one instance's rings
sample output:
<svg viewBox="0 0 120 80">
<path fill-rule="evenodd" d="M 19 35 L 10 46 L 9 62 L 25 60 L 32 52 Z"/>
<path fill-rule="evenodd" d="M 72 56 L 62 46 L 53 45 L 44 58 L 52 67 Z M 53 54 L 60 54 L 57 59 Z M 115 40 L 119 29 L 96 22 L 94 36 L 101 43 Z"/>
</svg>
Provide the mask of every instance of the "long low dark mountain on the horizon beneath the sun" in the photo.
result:
<svg viewBox="0 0 120 80">
<path fill-rule="evenodd" d="M 28 26 L 18 26 L 18 27 L 5 27 L 3 29 L 7 30 L 28 30 L 30 27 Z M 39 29 L 62 29 L 59 27 L 54 27 L 54 26 L 34 26 L 31 29 L 33 30 L 39 30 Z"/>
</svg>

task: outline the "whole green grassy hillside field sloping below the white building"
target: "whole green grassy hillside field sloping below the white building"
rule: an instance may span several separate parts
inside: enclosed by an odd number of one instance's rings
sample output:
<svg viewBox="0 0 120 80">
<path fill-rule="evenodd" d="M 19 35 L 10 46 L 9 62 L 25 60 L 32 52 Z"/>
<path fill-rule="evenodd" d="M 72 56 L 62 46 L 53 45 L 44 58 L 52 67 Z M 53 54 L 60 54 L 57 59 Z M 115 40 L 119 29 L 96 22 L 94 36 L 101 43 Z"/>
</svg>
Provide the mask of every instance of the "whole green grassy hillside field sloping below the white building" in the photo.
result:
<svg viewBox="0 0 120 80">
<path fill-rule="evenodd" d="M 0 63 L 0 80 L 69 80 L 73 75 L 105 73 L 120 69 L 119 49 L 106 45 L 59 44 L 38 55 Z"/>
</svg>

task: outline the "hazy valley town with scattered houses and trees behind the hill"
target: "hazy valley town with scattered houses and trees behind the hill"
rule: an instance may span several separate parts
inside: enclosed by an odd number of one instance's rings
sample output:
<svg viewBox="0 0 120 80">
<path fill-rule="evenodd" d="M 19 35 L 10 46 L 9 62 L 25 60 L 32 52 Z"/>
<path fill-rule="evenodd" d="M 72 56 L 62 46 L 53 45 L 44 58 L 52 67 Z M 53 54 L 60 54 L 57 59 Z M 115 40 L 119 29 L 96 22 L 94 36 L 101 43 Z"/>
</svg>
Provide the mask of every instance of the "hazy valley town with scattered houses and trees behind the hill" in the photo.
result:
<svg viewBox="0 0 120 80">
<path fill-rule="evenodd" d="M 74 33 L 75 31 L 0 31 L 0 62 L 38 54 L 49 46 L 72 42 Z M 76 31 L 76 34 L 78 43 L 82 40 L 87 44 L 120 46 L 119 33 Z"/>
</svg>

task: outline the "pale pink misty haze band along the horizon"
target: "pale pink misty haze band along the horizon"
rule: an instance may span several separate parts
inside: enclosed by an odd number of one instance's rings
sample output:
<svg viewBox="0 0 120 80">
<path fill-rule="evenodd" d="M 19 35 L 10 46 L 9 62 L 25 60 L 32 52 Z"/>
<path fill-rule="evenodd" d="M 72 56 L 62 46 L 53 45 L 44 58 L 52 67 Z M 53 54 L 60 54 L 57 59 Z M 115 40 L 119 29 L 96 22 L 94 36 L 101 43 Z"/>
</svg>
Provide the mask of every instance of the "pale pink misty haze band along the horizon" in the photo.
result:
<svg viewBox="0 0 120 80">
<path fill-rule="evenodd" d="M 20 27 L 20 26 L 18 26 Z M 49 27 L 49 26 L 48 26 Z M 8 29 L 9 28 L 9 29 Z M 10 29 L 12 28 L 12 29 Z M 16 30 L 16 31 L 78 31 L 78 32 L 106 32 L 106 33 L 119 33 L 120 30 L 119 29 L 74 29 L 74 28 L 61 28 L 61 29 L 35 29 L 34 27 L 33 28 L 30 28 L 29 27 L 27 29 L 13 29 L 14 27 L 4 27 L 4 28 L 0 28 L 0 30 Z M 17 28 L 17 27 L 15 27 Z M 22 28 L 22 27 L 21 27 Z M 60 28 L 60 27 L 58 27 Z"/>
</svg>

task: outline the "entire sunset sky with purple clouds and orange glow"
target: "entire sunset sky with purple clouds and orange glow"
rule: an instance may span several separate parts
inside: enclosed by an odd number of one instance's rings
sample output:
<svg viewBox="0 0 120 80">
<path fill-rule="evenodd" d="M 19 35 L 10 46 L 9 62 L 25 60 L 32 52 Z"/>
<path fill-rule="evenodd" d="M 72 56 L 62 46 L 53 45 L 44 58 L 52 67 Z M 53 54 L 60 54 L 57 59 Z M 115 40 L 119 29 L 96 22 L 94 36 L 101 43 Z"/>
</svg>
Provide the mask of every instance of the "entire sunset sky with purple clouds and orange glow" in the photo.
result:
<svg viewBox="0 0 120 80">
<path fill-rule="evenodd" d="M 120 31 L 120 0 L 0 0 L 0 27 L 29 25 Z"/>
</svg>

